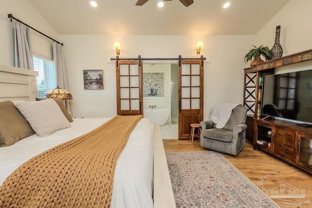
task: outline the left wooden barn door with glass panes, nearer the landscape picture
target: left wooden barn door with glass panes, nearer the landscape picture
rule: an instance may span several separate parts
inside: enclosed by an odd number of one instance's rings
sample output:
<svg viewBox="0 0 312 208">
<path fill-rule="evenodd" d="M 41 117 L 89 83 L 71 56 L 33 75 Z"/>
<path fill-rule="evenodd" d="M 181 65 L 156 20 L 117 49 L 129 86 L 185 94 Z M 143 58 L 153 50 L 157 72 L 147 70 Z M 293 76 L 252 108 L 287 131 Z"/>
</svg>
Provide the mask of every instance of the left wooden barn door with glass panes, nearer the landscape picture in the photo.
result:
<svg viewBox="0 0 312 208">
<path fill-rule="evenodd" d="M 119 60 L 116 63 L 117 114 L 143 114 L 143 62 Z"/>
</svg>

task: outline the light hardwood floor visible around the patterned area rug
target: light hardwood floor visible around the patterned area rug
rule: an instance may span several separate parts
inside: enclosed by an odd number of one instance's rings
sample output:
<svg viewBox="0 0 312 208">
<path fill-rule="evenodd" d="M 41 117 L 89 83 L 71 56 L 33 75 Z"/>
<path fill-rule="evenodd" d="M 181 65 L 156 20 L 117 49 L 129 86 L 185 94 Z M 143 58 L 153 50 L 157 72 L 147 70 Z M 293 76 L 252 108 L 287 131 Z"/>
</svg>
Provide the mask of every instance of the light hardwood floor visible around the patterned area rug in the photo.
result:
<svg viewBox="0 0 312 208">
<path fill-rule="evenodd" d="M 183 140 L 168 140 L 163 139 L 163 144 L 166 152 L 172 151 L 210 151 L 202 148 L 199 141 L 195 140 L 192 145 L 190 141 Z M 294 189 L 299 189 L 299 193 L 305 193 L 305 198 L 287 199 L 288 204 L 282 206 L 281 201 L 273 199 L 281 207 L 312 207 L 312 175 L 303 170 L 300 170 L 276 157 L 261 150 L 254 150 L 251 142 L 246 140 L 246 145 L 237 156 L 222 154 L 230 161 L 240 172 L 242 172 L 254 185 L 257 186 L 262 180 L 261 177 L 267 175 L 275 175 L 279 182 L 284 182 L 286 185 L 291 185 Z M 279 185 L 278 179 L 274 176 L 264 179 L 266 189 L 274 189 Z M 262 190 L 262 187 L 259 187 Z M 303 191 L 303 192 L 302 192 Z M 266 191 L 264 191 L 266 193 Z M 297 195 L 297 194 L 295 194 Z M 272 197 L 271 197 L 272 198 Z M 308 202 L 308 203 L 300 203 Z M 301 204 L 301 205 L 300 205 Z"/>
</svg>

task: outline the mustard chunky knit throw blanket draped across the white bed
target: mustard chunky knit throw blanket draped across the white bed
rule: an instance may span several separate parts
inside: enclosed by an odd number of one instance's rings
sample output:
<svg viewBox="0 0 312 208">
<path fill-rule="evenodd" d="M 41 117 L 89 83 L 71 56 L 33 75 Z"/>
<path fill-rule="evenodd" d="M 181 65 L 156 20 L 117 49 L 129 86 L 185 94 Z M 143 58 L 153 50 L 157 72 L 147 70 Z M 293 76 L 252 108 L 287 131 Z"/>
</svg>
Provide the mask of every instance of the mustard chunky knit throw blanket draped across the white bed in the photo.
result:
<svg viewBox="0 0 312 208">
<path fill-rule="evenodd" d="M 117 158 L 142 117 L 117 115 L 25 162 L 0 187 L 0 207 L 108 208 Z"/>
</svg>

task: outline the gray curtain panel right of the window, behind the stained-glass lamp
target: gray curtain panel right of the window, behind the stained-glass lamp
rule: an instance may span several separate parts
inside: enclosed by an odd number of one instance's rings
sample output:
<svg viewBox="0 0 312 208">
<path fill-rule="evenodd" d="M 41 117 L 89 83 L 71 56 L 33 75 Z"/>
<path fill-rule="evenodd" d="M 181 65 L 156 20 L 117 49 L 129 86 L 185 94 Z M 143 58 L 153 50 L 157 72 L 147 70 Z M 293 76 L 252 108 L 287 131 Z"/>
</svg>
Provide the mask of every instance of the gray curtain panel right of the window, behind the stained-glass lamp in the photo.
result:
<svg viewBox="0 0 312 208">
<path fill-rule="evenodd" d="M 67 72 L 65 68 L 62 45 L 60 43 L 53 41 L 52 49 L 53 49 L 54 66 L 57 70 L 58 86 L 59 88 L 65 89 L 68 92 L 70 92 L 69 87 L 68 87 Z M 71 115 L 73 115 L 70 100 L 65 100 L 65 106 L 66 106 L 67 111 L 70 112 Z"/>
</svg>

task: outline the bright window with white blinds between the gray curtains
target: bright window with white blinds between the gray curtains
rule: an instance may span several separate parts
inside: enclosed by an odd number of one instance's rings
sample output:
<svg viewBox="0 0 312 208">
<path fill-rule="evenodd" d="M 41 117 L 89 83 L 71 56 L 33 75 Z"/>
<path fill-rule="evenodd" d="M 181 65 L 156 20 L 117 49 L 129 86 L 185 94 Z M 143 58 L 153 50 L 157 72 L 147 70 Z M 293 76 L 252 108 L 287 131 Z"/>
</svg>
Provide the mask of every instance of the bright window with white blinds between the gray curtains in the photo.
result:
<svg viewBox="0 0 312 208">
<path fill-rule="evenodd" d="M 56 70 L 53 60 L 47 57 L 34 56 L 34 70 L 38 72 L 36 77 L 38 98 L 45 98 L 44 93 L 57 87 Z"/>
</svg>

